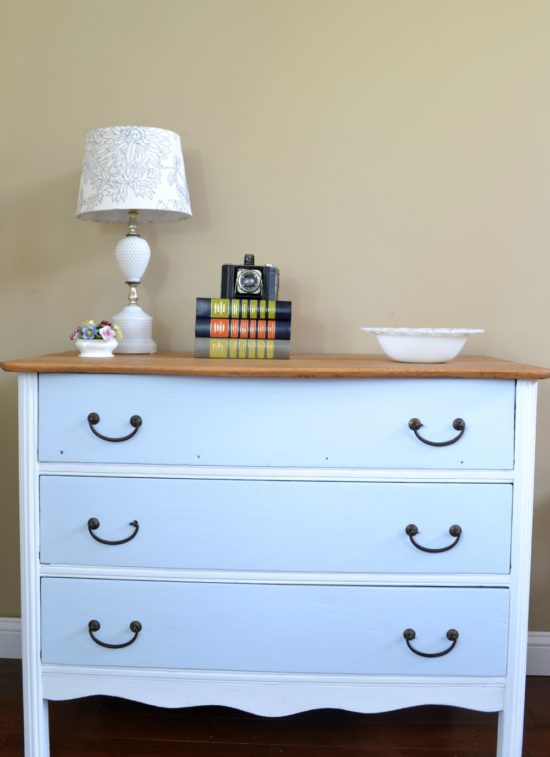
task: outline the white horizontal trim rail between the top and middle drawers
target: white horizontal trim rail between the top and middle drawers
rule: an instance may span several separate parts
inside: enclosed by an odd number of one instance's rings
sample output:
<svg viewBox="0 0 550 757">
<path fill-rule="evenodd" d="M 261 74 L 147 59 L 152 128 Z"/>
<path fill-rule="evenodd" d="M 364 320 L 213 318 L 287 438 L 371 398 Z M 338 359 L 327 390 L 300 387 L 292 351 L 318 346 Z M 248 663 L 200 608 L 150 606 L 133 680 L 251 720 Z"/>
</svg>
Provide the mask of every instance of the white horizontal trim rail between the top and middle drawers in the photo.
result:
<svg viewBox="0 0 550 757">
<path fill-rule="evenodd" d="M 39 463 L 38 473 L 57 476 L 123 478 L 205 478 L 248 481 L 406 481 L 429 483 L 513 483 L 513 470 L 435 470 L 433 468 L 246 468 L 209 465 L 135 465 L 131 463 Z"/>
</svg>

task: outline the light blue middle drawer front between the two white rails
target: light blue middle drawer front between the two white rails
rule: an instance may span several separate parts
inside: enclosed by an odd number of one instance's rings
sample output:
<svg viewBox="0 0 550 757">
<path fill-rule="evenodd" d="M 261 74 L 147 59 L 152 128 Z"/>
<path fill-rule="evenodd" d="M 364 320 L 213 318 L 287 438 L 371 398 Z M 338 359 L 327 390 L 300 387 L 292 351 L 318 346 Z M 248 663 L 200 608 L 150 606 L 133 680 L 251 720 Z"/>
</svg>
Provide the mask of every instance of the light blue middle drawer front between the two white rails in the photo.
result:
<svg viewBox="0 0 550 757">
<path fill-rule="evenodd" d="M 42 476 L 44 563 L 211 570 L 508 573 L 510 484 Z M 95 518 L 99 528 L 88 528 Z M 130 525 L 137 522 L 136 525 Z M 414 541 L 438 549 L 427 553 Z M 124 540 L 106 545 L 94 539 Z"/>
</svg>

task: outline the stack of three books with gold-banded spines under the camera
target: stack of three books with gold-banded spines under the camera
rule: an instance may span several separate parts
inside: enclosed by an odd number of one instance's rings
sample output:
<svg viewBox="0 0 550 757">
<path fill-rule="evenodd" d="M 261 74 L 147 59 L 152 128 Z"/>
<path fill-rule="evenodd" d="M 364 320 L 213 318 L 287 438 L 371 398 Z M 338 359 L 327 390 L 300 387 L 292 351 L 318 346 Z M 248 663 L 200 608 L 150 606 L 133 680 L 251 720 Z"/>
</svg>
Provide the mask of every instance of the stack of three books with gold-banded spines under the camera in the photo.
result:
<svg viewBox="0 0 550 757">
<path fill-rule="evenodd" d="M 292 303 L 197 297 L 195 357 L 290 357 Z"/>
</svg>

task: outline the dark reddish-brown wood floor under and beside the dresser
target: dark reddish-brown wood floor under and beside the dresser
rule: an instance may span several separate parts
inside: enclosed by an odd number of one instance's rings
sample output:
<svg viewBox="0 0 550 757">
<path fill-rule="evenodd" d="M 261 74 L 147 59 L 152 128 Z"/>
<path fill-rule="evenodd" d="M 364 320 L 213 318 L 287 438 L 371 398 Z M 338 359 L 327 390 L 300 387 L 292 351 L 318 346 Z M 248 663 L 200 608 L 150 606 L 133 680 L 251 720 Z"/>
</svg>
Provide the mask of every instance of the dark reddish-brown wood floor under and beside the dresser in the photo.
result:
<svg viewBox="0 0 550 757">
<path fill-rule="evenodd" d="M 109 697 L 50 704 L 52 757 L 494 757 L 494 714 L 416 707 L 260 718 Z M 0 757 L 22 757 L 21 665 L 0 660 Z M 529 678 L 524 757 L 550 757 L 550 678 Z"/>
</svg>

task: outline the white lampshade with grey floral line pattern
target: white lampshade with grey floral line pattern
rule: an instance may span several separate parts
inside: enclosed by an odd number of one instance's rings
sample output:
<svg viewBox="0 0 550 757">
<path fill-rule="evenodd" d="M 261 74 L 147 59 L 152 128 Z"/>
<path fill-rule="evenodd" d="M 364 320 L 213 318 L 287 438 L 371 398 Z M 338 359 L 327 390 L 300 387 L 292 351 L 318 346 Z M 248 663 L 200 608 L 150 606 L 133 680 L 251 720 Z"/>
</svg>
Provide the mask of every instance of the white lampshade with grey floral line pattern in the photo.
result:
<svg viewBox="0 0 550 757">
<path fill-rule="evenodd" d="M 86 150 L 77 218 L 127 223 L 175 221 L 191 216 L 179 135 L 150 126 L 94 129 Z"/>
</svg>

